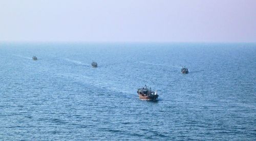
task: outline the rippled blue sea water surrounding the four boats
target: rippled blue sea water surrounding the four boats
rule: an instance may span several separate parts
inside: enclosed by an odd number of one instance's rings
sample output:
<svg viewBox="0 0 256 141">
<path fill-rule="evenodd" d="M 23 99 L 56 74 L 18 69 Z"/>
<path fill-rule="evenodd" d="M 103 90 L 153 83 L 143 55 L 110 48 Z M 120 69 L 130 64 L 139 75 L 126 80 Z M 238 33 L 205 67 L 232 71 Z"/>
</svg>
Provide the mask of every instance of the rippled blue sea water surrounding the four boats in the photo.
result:
<svg viewBox="0 0 256 141">
<path fill-rule="evenodd" d="M 255 74 L 254 43 L 0 43 L 0 140 L 255 140 Z"/>
</svg>

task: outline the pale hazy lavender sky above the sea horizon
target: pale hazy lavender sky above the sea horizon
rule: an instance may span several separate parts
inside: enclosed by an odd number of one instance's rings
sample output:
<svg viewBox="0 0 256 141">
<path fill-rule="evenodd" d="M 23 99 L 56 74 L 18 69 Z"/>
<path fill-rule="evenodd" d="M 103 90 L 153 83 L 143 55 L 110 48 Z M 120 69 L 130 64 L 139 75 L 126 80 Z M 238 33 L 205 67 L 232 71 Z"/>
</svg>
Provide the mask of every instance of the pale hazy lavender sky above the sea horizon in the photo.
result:
<svg viewBox="0 0 256 141">
<path fill-rule="evenodd" d="M 256 42 L 256 0 L 0 0 L 0 41 Z"/>
</svg>

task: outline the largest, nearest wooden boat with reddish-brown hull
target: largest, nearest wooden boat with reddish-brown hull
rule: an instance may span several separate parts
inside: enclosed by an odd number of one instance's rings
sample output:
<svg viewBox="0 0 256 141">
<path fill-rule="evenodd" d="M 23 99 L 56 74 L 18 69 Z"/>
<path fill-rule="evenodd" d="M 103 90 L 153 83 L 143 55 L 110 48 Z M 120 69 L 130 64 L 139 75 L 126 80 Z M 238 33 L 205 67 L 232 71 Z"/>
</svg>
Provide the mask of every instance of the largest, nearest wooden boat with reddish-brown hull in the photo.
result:
<svg viewBox="0 0 256 141">
<path fill-rule="evenodd" d="M 137 91 L 139 95 L 139 99 L 141 100 L 157 100 L 158 94 L 157 90 L 152 91 L 151 88 L 148 89 L 148 87 L 145 85 L 145 87 L 139 88 Z"/>
</svg>

